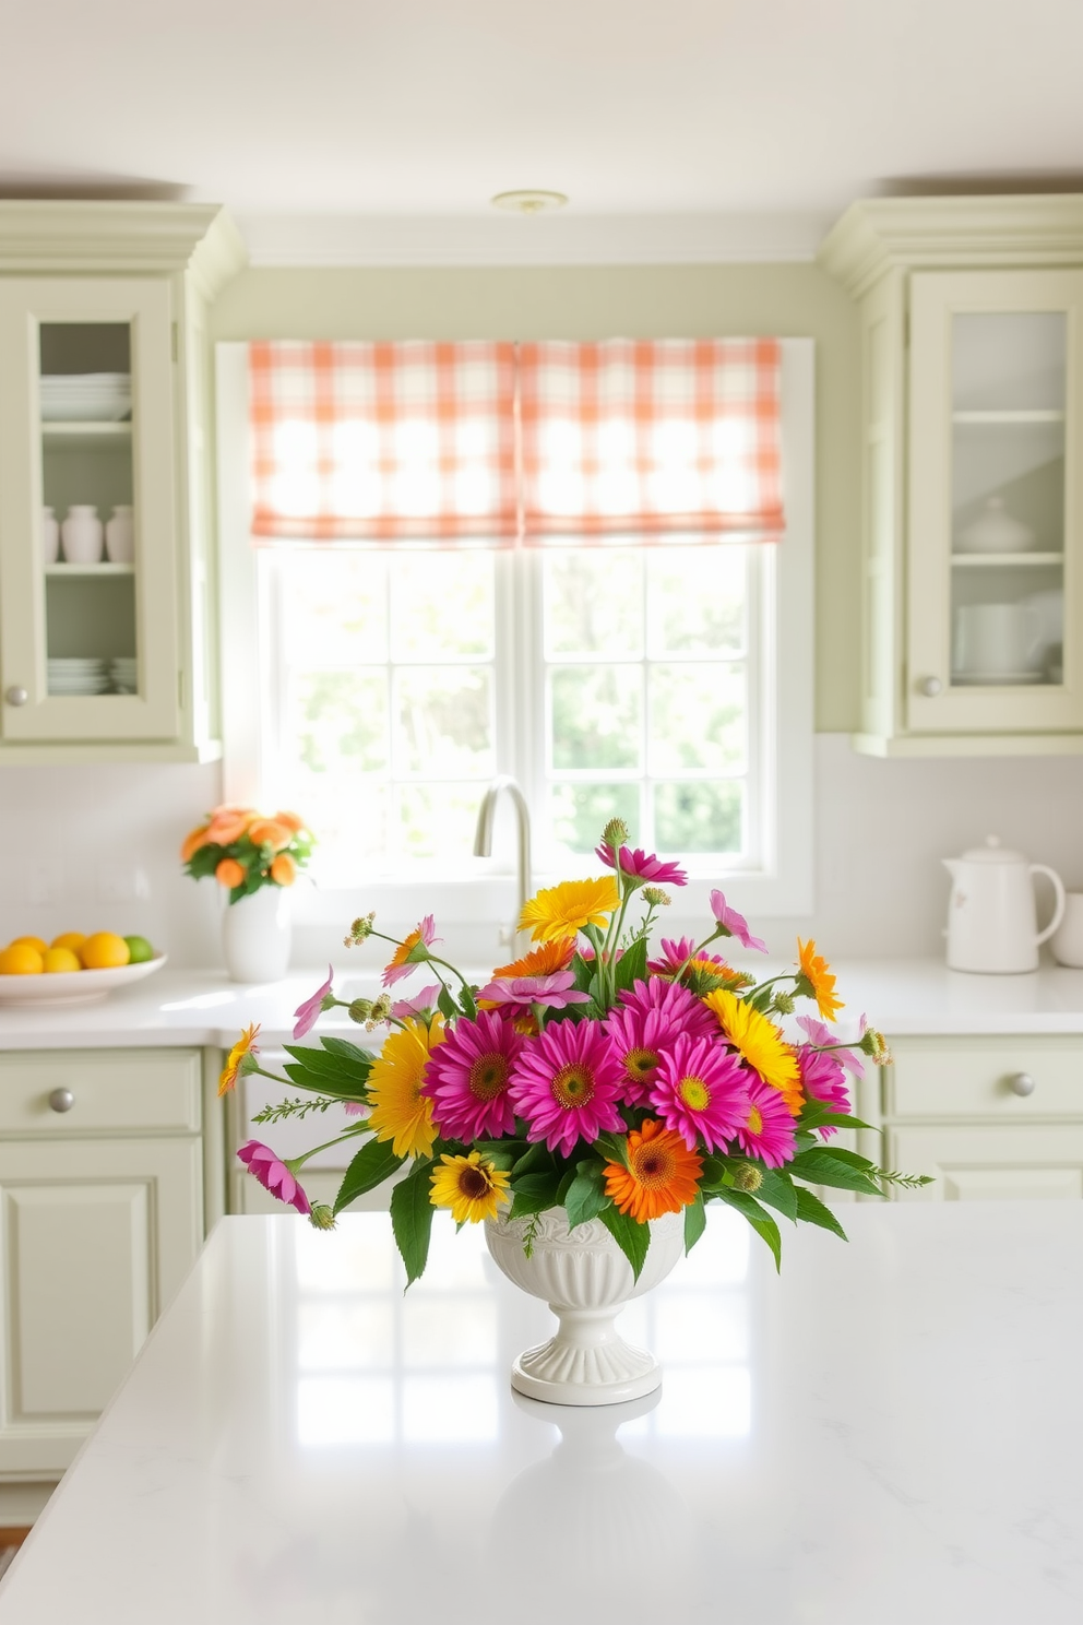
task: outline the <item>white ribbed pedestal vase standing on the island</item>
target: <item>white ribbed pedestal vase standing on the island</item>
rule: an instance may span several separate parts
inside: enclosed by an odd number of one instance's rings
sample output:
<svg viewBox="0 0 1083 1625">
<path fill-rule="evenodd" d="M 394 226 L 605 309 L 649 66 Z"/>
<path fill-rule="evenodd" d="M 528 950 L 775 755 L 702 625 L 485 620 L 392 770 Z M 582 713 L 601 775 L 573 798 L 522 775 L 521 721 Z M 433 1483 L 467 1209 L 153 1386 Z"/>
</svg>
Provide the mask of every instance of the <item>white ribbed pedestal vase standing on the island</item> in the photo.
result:
<svg viewBox="0 0 1083 1625">
<path fill-rule="evenodd" d="M 528 1258 L 523 1245 L 534 1227 Z M 568 1230 L 563 1207 L 536 1220 L 489 1219 L 485 1242 L 498 1269 L 523 1292 L 544 1298 L 559 1326 L 549 1342 L 526 1349 L 511 1367 L 511 1386 L 557 1406 L 614 1406 L 653 1393 L 662 1368 L 653 1354 L 625 1342 L 614 1321 L 684 1253 L 684 1216 L 651 1224 L 651 1245 L 640 1279 L 599 1219 Z"/>
</svg>

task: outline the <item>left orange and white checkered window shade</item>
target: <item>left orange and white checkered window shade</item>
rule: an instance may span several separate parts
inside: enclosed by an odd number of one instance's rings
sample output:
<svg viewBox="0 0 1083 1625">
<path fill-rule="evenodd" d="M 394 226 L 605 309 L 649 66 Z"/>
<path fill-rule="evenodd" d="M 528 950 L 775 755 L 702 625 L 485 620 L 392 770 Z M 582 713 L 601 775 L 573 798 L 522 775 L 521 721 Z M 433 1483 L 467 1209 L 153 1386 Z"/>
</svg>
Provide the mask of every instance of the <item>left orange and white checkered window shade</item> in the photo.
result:
<svg viewBox="0 0 1083 1625">
<path fill-rule="evenodd" d="M 515 346 L 248 346 L 257 541 L 513 543 Z"/>
</svg>

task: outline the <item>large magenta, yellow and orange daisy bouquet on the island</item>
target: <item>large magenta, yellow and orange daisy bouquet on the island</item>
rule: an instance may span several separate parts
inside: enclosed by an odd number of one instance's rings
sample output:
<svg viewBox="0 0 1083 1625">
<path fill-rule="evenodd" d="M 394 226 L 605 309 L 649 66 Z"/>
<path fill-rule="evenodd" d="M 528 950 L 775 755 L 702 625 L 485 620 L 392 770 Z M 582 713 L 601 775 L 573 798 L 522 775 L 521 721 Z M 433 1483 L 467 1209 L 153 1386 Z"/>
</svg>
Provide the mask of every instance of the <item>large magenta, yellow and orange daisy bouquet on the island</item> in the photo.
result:
<svg viewBox="0 0 1083 1625">
<path fill-rule="evenodd" d="M 521 915 L 534 947 L 471 985 L 435 952 L 432 915 L 404 939 L 354 920 L 346 946 L 393 944 L 377 999 L 334 996 L 333 970 L 296 1011 L 294 1040 L 323 1011 L 343 1006 L 367 1030 L 386 1024 L 378 1055 L 339 1037 L 287 1045 L 286 1077 L 258 1061 L 257 1027 L 234 1045 L 219 1094 L 245 1072 L 291 1082 L 309 1098 L 268 1107 L 257 1123 L 325 1112 L 343 1102 L 357 1121 L 334 1141 L 362 1138 L 333 1206 L 312 1204 L 299 1172 L 260 1141 L 239 1152 L 281 1201 L 320 1228 L 357 1196 L 408 1165 L 391 1191 L 391 1222 L 409 1280 L 429 1251 L 435 1209 L 456 1224 L 528 1219 L 563 1207 L 570 1228 L 599 1219 L 633 1276 L 649 1246 L 649 1220 L 682 1212 L 685 1250 L 705 1227 L 705 1204 L 736 1207 L 781 1263 L 773 1212 L 844 1232 L 810 1186 L 882 1196 L 891 1173 L 831 1144 L 851 1112 L 848 1077 L 862 1056 L 887 1064 L 883 1037 L 862 1017 L 857 1040 L 838 1042 L 835 977 L 815 942 L 797 942 L 796 968 L 763 982 L 711 952 L 724 938 L 765 952 L 721 890 L 703 941 L 662 938 L 651 949 L 666 886 L 684 886 L 677 863 L 628 847 L 625 826 L 606 826 L 596 855 L 609 871 L 539 890 Z M 424 965 L 435 982 L 393 999 L 391 988 Z M 787 1038 L 779 1017 L 796 1001 Z M 531 1224 L 526 1248 L 531 1246 Z"/>
</svg>

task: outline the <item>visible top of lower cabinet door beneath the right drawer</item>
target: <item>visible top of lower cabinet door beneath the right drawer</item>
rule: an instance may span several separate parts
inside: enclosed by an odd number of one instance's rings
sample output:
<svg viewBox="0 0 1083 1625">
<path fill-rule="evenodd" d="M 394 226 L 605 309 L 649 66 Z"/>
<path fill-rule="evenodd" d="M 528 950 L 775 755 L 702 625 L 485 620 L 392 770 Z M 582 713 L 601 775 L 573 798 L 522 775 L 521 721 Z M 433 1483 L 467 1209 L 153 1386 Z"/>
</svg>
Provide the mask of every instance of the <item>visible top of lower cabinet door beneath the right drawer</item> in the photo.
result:
<svg viewBox="0 0 1083 1625">
<path fill-rule="evenodd" d="M 887 1134 L 887 1157 L 891 1168 L 932 1173 L 935 1180 L 914 1191 L 893 1191 L 896 1201 L 1083 1196 L 1081 1124 L 893 1128 Z"/>
</svg>

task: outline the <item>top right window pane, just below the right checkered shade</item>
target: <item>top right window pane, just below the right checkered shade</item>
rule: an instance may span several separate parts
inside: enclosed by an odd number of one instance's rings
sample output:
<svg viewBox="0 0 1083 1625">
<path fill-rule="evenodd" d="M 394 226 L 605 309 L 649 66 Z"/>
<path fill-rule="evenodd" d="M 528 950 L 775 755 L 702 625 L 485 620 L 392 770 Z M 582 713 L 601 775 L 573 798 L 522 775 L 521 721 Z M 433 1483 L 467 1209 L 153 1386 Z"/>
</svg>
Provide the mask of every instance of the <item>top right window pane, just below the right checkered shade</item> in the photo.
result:
<svg viewBox="0 0 1083 1625">
<path fill-rule="evenodd" d="M 653 655 L 740 655 L 745 648 L 747 549 L 651 549 L 648 621 Z"/>
</svg>

